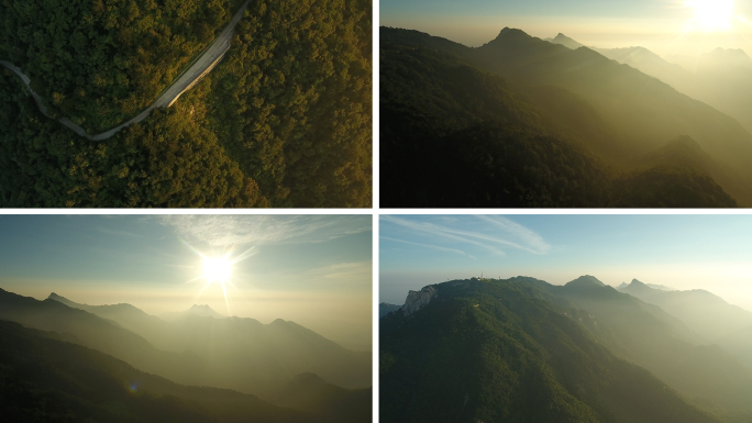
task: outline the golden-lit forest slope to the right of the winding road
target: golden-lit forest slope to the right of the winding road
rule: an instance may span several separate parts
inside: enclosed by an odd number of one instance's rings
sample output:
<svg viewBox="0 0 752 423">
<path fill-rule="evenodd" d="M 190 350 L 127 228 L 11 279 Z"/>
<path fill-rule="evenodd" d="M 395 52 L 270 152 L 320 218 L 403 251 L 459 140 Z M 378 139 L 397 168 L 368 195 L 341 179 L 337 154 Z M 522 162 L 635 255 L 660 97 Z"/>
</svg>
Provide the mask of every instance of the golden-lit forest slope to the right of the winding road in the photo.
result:
<svg viewBox="0 0 752 423">
<path fill-rule="evenodd" d="M 275 205 L 365 207 L 371 1 L 254 1 L 212 75 L 211 124 Z"/>
</svg>

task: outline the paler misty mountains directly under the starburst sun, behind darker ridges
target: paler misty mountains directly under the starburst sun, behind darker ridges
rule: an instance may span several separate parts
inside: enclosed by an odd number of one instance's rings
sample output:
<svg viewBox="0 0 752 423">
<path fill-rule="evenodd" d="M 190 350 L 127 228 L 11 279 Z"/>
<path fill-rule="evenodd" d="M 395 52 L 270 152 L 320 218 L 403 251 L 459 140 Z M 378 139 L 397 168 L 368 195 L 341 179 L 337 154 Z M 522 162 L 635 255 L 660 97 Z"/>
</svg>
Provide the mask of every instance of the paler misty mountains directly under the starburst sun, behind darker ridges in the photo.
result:
<svg viewBox="0 0 752 423">
<path fill-rule="evenodd" d="M 371 353 L 351 352 L 294 322 L 217 319 L 206 305 L 193 305 L 174 322 L 165 322 L 130 304 L 92 307 L 66 301 L 111 319 L 163 350 L 200 359 L 201 376 L 195 380 L 201 385 L 268 398 L 295 375 L 312 372 L 345 388 L 372 386 Z"/>
</svg>

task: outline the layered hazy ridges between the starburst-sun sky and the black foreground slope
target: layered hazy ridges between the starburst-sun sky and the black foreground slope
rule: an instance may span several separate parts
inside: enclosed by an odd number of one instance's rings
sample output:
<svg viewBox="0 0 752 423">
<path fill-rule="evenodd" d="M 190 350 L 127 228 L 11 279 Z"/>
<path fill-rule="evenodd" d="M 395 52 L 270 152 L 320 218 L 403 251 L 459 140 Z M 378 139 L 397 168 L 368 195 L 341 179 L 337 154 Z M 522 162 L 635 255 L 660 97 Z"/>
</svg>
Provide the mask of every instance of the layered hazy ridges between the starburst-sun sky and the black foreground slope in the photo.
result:
<svg viewBox="0 0 752 423">
<path fill-rule="evenodd" d="M 201 315 L 207 311 L 193 308 L 167 322 L 130 304 L 90 307 L 57 294 L 37 301 L 0 291 L 0 320 L 54 331 L 60 341 L 139 370 L 251 393 L 328 421 L 371 419 L 369 354 L 346 350 L 292 322 Z"/>
</svg>

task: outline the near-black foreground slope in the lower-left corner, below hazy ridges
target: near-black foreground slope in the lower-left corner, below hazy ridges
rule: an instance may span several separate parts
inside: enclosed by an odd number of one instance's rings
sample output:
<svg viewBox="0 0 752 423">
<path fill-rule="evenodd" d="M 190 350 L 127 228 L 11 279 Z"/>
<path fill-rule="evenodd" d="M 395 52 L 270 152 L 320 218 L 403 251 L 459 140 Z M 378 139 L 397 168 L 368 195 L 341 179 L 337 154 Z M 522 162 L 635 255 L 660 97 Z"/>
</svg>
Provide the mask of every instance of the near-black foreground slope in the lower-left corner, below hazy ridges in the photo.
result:
<svg viewBox="0 0 752 423">
<path fill-rule="evenodd" d="M 329 422 L 226 389 L 187 387 L 0 321 L 3 422 Z"/>
</svg>

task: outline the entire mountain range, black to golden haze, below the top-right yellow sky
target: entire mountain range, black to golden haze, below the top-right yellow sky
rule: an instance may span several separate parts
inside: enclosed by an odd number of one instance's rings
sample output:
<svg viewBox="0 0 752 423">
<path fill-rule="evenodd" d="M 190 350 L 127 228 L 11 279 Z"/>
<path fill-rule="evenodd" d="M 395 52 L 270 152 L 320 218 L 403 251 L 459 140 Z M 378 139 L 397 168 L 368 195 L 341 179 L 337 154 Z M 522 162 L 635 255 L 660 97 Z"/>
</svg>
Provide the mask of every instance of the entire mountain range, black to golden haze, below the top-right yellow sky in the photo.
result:
<svg viewBox="0 0 752 423">
<path fill-rule="evenodd" d="M 752 135 L 637 69 L 510 29 L 380 40 L 385 205 L 752 204 Z"/>
</svg>

